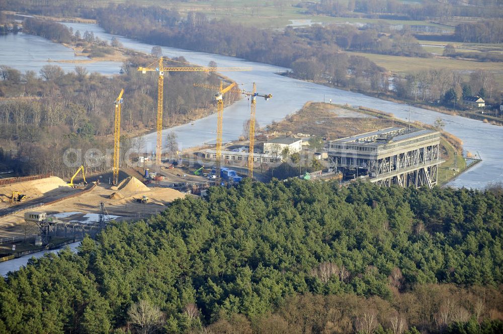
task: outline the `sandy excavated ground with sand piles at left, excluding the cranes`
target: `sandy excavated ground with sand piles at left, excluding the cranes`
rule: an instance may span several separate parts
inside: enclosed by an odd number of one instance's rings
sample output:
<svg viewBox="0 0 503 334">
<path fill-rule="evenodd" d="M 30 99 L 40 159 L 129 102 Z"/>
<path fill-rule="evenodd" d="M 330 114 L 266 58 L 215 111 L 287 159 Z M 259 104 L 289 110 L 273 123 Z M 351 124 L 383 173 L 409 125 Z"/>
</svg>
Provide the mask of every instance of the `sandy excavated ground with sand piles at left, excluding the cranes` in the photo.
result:
<svg viewBox="0 0 503 334">
<path fill-rule="evenodd" d="M 185 196 L 172 188 L 148 187 L 134 176 L 115 186 L 93 182 L 72 187 L 59 177 L 48 175 L 21 182 L 16 179 L 1 181 L 12 182 L 0 184 L 0 253 L 3 254 L 11 253 L 12 245 L 17 243 L 27 243 L 26 249 L 33 248 L 36 236 L 42 236 L 45 241 L 38 246 L 79 240 L 95 225 L 111 220 L 142 219 Z M 17 193 L 22 194 L 19 201 Z M 50 235 L 51 231 L 46 231 L 43 235 L 39 224 L 26 219 L 27 213 L 32 212 L 45 214 L 46 220 L 55 224 L 71 226 L 73 234 L 64 234 L 60 229 L 59 233 L 52 231 Z M 22 250 L 23 247 L 17 248 L 17 251 Z"/>
</svg>

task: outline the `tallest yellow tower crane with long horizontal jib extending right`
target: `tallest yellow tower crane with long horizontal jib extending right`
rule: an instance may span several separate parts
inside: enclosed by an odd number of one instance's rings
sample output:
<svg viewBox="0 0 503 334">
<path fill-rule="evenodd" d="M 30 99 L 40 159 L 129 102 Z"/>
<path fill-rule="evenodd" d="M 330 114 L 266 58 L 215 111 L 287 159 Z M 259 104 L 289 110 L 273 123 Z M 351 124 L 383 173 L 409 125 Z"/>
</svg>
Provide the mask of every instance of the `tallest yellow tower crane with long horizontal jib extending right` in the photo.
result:
<svg viewBox="0 0 503 334">
<path fill-rule="evenodd" d="M 178 63 L 183 63 L 180 61 L 175 61 L 168 58 L 159 58 L 158 67 L 138 67 L 138 71 L 145 74 L 147 71 L 156 71 L 159 73 L 157 79 L 157 143 L 155 147 L 155 165 L 157 170 L 160 168 L 160 158 L 162 155 L 162 99 L 164 92 L 164 72 L 187 72 L 187 71 L 198 71 L 198 72 L 228 72 L 228 71 L 251 71 L 251 67 L 206 67 L 206 66 L 192 66 L 192 67 L 164 67 L 164 60 L 173 61 Z M 150 64 L 149 66 L 152 66 Z M 193 65 L 193 64 L 192 64 Z"/>
</svg>

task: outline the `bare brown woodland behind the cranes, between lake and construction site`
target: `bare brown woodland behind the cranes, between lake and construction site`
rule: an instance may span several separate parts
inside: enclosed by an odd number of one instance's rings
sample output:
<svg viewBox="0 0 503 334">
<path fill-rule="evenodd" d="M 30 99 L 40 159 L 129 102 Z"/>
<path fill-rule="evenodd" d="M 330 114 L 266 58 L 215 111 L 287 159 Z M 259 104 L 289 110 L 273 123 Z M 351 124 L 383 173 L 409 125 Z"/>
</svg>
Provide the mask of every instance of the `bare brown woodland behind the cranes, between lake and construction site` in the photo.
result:
<svg viewBox="0 0 503 334">
<path fill-rule="evenodd" d="M 139 135 L 154 128 L 157 78 L 153 72 L 141 74 L 136 70 L 154 61 L 151 57 L 130 58 L 123 64 L 123 74 L 113 78 L 88 73 L 81 66 L 65 73 L 57 65 L 45 65 L 39 75 L 0 66 L 0 96 L 4 96 L 0 97 L 2 162 L 20 174 L 71 175 L 74 168 L 65 164 L 66 149 L 81 149 L 83 159 L 88 149 L 107 152 L 110 148 L 107 136 L 113 133 L 113 101 L 121 88 L 125 89 L 123 134 Z M 164 126 L 186 123 L 213 111 L 211 91 L 195 89 L 193 83 L 218 84 L 216 74 L 169 73 L 164 81 Z M 124 140 L 121 148 L 127 151 L 131 145 Z M 138 143 L 135 150 L 140 146 Z M 106 171 L 109 162 L 102 160 L 88 167 Z"/>
</svg>

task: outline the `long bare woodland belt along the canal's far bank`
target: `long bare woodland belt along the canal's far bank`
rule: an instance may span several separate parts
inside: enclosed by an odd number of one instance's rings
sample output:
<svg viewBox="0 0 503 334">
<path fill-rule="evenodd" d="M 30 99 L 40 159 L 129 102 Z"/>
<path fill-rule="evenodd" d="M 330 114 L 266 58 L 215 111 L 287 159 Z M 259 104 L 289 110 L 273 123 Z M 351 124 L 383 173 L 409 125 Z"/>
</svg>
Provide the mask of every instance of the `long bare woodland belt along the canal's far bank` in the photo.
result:
<svg viewBox="0 0 503 334">
<path fill-rule="evenodd" d="M 119 18 L 110 15 L 120 11 Z M 226 21 L 208 21 L 201 13 L 189 13 L 176 24 L 158 24 L 153 15 L 139 16 L 135 7 L 119 5 L 102 11 L 100 25 L 112 34 L 134 37 L 148 43 L 241 57 L 291 67 L 296 76 L 328 80 L 362 91 L 386 91 L 387 71 L 364 57 L 349 56 L 341 49 L 382 52 L 395 49 L 417 55 L 417 43 L 397 34 L 395 41 L 375 31 L 315 26 L 287 28 L 284 32 L 245 28 Z M 349 31 L 342 31 L 348 29 Z M 401 43 L 407 40 L 407 43 Z M 398 47 L 398 43 L 399 47 Z M 395 48 L 393 48 L 395 46 Z"/>
</svg>

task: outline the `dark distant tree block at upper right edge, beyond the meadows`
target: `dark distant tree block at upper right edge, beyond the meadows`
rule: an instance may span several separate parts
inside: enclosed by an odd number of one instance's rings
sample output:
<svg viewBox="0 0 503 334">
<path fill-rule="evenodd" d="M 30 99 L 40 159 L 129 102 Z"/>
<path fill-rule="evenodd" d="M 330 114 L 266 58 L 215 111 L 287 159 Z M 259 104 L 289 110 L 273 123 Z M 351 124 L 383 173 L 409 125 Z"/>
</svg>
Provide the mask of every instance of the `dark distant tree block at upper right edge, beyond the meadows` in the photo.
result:
<svg viewBox="0 0 503 334">
<path fill-rule="evenodd" d="M 455 36 L 460 42 L 502 43 L 503 19 L 460 23 L 456 26 Z"/>
</svg>

